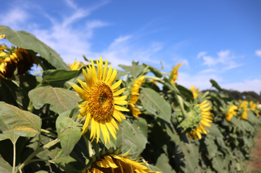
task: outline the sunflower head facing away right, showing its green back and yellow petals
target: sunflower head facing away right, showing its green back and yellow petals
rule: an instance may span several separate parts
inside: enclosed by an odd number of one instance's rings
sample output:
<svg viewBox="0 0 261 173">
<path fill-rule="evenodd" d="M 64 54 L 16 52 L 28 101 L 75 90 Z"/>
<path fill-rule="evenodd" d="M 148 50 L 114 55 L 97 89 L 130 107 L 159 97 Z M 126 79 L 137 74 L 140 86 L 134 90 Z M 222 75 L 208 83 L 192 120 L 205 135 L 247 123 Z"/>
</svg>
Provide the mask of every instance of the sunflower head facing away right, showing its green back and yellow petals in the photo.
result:
<svg viewBox="0 0 261 173">
<path fill-rule="evenodd" d="M 191 104 L 190 112 L 185 116 L 181 124 L 178 127 L 182 127 L 183 132 L 188 134 L 190 139 L 201 139 L 203 134 L 207 134 L 208 130 L 206 127 L 211 127 L 209 122 L 213 122 L 213 118 L 210 113 L 212 110 L 210 102 L 203 101 L 200 104 Z"/>
</svg>

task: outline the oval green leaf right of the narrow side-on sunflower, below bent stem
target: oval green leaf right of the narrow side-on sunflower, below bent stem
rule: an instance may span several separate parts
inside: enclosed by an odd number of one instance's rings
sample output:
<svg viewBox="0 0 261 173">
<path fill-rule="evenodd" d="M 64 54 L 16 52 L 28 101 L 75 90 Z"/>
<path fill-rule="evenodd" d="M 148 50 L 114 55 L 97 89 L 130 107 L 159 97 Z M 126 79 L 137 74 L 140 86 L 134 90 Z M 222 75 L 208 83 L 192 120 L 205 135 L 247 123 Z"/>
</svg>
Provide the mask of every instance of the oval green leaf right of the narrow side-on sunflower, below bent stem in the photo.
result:
<svg viewBox="0 0 261 173">
<path fill-rule="evenodd" d="M 150 88 L 142 88 L 140 91 L 140 101 L 147 111 L 166 122 L 170 122 L 171 105 L 156 91 Z"/>
</svg>

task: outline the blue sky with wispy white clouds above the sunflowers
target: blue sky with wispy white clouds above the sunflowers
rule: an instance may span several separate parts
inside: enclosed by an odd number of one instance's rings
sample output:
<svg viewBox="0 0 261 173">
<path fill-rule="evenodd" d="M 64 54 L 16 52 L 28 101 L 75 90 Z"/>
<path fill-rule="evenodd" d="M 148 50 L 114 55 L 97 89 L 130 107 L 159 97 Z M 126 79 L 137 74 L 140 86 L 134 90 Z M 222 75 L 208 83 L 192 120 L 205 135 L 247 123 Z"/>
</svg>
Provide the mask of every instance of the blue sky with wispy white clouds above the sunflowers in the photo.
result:
<svg viewBox="0 0 261 173">
<path fill-rule="evenodd" d="M 114 68 L 132 60 L 164 72 L 179 62 L 178 84 L 261 91 L 261 1 L 4 1 L 0 25 L 25 30 L 66 63 L 99 56 Z"/>
</svg>

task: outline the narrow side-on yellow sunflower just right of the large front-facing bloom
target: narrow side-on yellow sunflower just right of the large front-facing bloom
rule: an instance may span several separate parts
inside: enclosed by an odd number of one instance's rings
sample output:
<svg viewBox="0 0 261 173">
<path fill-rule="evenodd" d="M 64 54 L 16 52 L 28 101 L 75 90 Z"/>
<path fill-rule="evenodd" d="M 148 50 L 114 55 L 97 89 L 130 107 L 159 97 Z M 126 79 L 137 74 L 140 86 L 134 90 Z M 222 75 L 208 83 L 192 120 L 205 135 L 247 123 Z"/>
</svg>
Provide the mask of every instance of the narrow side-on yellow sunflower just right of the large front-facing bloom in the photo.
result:
<svg viewBox="0 0 261 173">
<path fill-rule="evenodd" d="M 140 110 L 138 108 L 135 108 L 135 104 L 139 99 L 138 97 L 140 95 L 139 91 L 140 91 L 141 84 L 143 82 L 145 82 L 145 76 L 142 76 L 139 79 L 137 79 L 133 84 L 133 88 L 131 89 L 130 110 L 133 113 L 134 117 L 139 117 L 139 115 L 141 114 Z"/>
</svg>

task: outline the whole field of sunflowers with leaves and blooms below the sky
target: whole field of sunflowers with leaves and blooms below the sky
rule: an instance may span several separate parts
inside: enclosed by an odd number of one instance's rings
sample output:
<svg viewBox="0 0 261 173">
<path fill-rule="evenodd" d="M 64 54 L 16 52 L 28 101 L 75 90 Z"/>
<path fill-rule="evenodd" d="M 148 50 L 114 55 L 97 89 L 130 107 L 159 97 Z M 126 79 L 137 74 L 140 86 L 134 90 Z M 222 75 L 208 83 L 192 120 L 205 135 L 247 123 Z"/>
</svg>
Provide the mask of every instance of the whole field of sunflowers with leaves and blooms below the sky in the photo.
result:
<svg viewBox="0 0 261 173">
<path fill-rule="evenodd" d="M 0 172 L 245 171 L 259 103 L 212 79 L 205 93 L 179 85 L 182 63 L 70 65 L 28 32 L 0 31 L 13 45 L 0 44 Z"/>
</svg>

